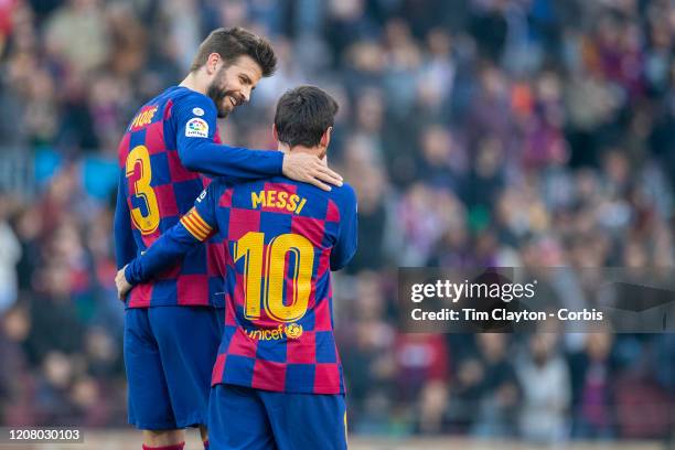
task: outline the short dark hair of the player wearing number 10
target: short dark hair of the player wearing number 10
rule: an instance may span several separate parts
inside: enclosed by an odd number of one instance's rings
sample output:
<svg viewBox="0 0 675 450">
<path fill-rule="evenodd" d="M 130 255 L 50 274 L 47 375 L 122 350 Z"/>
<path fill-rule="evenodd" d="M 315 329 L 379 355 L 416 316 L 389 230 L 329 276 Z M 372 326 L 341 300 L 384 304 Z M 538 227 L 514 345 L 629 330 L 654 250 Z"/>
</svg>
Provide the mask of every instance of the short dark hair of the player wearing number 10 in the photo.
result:
<svg viewBox="0 0 675 450">
<path fill-rule="evenodd" d="M 275 126 L 279 141 L 314 147 L 333 126 L 338 101 L 315 86 L 299 86 L 287 90 L 277 101 Z"/>
</svg>

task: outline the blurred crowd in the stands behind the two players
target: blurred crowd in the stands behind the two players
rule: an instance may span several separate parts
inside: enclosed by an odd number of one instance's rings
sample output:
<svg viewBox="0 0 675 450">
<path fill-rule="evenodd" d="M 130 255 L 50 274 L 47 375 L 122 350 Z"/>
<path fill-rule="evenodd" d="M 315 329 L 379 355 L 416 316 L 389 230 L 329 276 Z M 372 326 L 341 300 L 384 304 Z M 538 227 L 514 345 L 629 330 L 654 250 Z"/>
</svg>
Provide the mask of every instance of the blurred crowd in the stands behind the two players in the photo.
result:
<svg viewBox="0 0 675 450">
<path fill-rule="evenodd" d="M 118 139 L 234 25 L 280 67 L 225 142 L 275 148 L 275 101 L 301 83 L 341 106 L 329 162 L 360 201 L 334 302 L 353 431 L 673 432 L 672 334 L 406 334 L 394 300 L 399 266 L 673 269 L 669 0 L 0 0 L 0 424 L 126 424 Z"/>
</svg>

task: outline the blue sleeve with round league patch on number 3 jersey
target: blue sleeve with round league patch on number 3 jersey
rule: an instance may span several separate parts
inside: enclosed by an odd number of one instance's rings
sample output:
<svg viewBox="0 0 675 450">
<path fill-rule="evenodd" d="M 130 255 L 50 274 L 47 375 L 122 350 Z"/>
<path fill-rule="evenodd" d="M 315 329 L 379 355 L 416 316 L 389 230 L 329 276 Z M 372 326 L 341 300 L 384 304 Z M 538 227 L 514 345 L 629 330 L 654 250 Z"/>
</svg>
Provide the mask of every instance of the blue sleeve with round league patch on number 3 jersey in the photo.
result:
<svg viewBox="0 0 675 450">
<path fill-rule="evenodd" d="M 248 150 L 214 141 L 217 115 L 208 97 L 197 93 L 186 95 L 175 103 L 173 113 L 179 158 L 185 168 L 228 181 L 281 174 L 283 153 L 280 151 Z"/>
</svg>

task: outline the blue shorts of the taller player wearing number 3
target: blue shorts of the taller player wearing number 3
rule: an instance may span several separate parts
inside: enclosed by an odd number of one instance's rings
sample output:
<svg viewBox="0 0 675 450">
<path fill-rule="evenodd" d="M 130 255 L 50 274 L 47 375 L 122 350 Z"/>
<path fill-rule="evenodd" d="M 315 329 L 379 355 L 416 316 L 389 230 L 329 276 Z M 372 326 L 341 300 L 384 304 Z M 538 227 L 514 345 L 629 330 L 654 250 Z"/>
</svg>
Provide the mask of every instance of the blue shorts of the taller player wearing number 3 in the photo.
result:
<svg viewBox="0 0 675 450">
<path fill-rule="evenodd" d="M 129 424 L 141 430 L 206 424 L 224 313 L 206 307 L 126 310 Z"/>
</svg>

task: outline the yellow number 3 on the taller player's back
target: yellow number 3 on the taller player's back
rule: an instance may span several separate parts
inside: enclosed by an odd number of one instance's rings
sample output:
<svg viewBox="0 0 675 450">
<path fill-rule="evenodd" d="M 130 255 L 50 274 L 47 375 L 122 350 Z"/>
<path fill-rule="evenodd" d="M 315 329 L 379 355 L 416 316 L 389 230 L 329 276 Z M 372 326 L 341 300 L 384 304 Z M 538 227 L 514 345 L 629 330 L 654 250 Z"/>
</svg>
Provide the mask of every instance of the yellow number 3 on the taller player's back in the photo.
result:
<svg viewBox="0 0 675 450">
<path fill-rule="evenodd" d="M 159 227 L 160 213 L 157 195 L 150 186 L 152 179 L 152 167 L 150 165 L 150 153 L 146 146 L 135 147 L 127 157 L 127 180 L 133 183 L 133 194 L 146 205 L 144 212 L 136 206 L 131 210 L 131 219 L 141 234 L 154 233 Z"/>
</svg>

